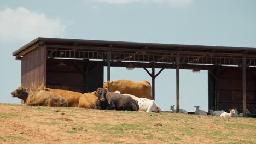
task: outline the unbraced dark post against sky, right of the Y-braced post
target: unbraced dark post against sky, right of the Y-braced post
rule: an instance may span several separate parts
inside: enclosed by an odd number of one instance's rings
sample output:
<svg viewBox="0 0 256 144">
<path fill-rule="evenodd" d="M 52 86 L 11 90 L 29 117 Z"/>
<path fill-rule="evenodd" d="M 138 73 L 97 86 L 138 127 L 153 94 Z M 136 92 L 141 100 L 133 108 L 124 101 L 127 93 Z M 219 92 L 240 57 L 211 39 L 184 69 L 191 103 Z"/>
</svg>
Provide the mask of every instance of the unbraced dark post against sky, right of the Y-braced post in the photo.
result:
<svg viewBox="0 0 256 144">
<path fill-rule="evenodd" d="M 176 57 L 176 112 L 179 113 L 179 54 Z"/>
</svg>

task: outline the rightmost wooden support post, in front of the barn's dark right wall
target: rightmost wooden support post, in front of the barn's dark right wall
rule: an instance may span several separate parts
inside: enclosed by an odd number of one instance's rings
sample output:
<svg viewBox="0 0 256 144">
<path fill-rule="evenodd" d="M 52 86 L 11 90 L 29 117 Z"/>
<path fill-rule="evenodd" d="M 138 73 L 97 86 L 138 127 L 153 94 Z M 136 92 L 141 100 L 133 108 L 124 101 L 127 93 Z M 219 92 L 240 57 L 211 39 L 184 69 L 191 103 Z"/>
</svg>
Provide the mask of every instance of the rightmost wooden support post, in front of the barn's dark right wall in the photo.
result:
<svg viewBox="0 0 256 144">
<path fill-rule="evenodd" d="M 246 117 L 247 116 L 247 113 L 246 113 L 246 58 L 243 57 L 243 71 L 242 71 L 242 94 L 243 94 L 243 117 Z"/>
</svg>

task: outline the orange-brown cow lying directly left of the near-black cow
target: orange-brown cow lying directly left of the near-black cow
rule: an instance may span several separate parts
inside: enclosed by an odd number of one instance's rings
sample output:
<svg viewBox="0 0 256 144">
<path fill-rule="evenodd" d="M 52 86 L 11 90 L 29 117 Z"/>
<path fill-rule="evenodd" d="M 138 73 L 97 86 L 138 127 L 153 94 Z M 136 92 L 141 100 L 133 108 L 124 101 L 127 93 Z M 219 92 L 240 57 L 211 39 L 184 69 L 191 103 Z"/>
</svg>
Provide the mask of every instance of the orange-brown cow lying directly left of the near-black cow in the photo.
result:
<svg viewBox="0 0 256 144">
<path fill-rule="evenodd" d="M 79 99 L 78 107 L 83 107 L 86 109 L 95 109 L 97 105 L 97 100 L 98 94 L 96 91 L 91 93 L 84 93 Z"/>
</svg>

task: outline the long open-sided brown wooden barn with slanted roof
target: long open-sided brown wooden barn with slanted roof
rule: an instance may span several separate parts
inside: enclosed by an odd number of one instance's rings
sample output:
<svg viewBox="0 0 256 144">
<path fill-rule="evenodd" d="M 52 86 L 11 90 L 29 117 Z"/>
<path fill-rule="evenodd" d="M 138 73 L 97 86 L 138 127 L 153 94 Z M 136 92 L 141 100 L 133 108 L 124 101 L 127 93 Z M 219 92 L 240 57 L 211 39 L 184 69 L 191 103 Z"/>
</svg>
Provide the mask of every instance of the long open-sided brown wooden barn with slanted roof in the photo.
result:
<svg viewBox="0 0 256 144">
<path fill-rule="evenodd" d="M 208 106 L 213 110 L 256 109 L 256 49 L 203 45 L 131 43 L 80 39 L 37 38 L 13 52 L 21 60 L 21 86 L 46 86 L 91 92 L 103 86 L 103 68 L 144 68 L 155 78 L 176 69 L 177 111 L 179 69 L 208 70 Z M 148 71 L 146 68 L 152 68 Z M 161 68 L 155 74 L 155 68 Z"/>
</svg>

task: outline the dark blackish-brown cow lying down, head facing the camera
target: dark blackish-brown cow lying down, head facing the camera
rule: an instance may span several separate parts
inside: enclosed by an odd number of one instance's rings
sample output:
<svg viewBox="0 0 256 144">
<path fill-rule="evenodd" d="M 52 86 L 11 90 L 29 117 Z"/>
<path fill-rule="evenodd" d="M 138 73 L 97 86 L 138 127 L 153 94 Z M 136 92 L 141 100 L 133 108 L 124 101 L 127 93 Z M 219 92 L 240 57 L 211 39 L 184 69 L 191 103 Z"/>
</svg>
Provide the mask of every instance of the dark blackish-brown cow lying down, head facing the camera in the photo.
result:
<svg viewBox="0 0 256 144">
<path fill-rule="evenodd" d="M 107 88 L 98 88 L 98 107 L 101 110 L 138 111 L 137 101 L 123 94 L 108 92 Z"/>
</svg>

